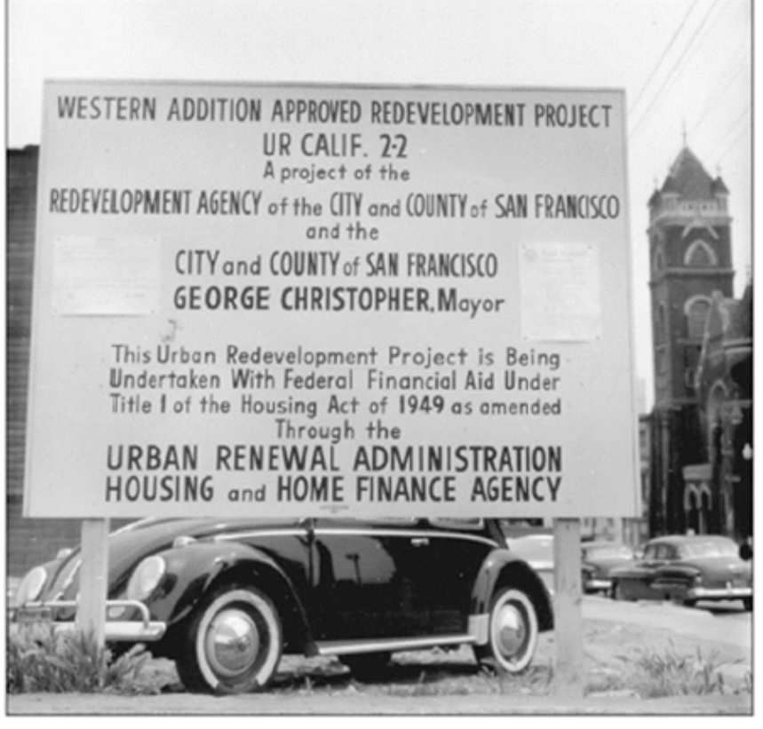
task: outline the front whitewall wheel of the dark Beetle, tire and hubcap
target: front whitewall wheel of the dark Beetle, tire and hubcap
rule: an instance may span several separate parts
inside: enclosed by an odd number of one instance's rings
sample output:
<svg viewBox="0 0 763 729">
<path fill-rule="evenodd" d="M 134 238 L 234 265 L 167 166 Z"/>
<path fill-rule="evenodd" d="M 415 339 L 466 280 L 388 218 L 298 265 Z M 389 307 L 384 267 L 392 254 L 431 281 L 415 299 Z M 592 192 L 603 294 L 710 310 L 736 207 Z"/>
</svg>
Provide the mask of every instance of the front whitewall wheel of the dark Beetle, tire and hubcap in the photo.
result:
<svg viewBox="0 0 763 729">
<path fill-rule="evenodd" d="M 192 614 L 176 661 L 188 691 L 247 693 L 264 688 L 282 654 L 273 603 L 250 587 L 227 585 Z"/>
</svg>

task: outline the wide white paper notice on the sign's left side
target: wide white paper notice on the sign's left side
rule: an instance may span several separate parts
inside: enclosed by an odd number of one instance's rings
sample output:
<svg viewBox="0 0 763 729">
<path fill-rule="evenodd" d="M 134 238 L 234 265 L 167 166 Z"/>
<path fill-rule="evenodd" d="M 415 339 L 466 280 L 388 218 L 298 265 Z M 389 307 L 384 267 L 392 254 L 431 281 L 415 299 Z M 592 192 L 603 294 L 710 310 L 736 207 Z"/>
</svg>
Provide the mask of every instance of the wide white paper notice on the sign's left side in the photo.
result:
<svg viewBox="0 0 763 729">
<path fill-rule="evenodd" d="M 154 313 L 160 271 L 154 237 L 61 236 L 53 255 L 53 311 L 62 316 Z"/>
</svg>

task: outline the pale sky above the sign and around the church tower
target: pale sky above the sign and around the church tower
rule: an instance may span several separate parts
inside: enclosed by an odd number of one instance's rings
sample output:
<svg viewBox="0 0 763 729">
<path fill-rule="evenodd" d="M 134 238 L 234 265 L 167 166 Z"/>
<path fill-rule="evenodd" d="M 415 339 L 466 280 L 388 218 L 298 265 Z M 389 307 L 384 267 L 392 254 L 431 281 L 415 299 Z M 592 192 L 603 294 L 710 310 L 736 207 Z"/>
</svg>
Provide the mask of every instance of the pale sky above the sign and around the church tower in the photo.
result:
<svg viewBox="0 0 763 729">
<path fill-rule="evenodd" d="M 624 89 L 638 376 L 652 400 L 647 201 L 687 146 L 751 266 L 751 0 L 10 0 L 6 144 L 44 78 Z"/>
</svg>

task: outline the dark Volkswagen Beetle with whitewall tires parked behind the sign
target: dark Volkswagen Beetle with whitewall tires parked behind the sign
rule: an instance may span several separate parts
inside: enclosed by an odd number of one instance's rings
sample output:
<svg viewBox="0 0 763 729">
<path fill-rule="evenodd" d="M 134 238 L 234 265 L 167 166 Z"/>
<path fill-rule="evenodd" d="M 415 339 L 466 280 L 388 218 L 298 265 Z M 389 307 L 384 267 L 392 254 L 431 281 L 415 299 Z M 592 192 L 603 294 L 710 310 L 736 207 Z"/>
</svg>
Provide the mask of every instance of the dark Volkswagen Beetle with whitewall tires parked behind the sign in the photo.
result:
<svg viewBox="0 0 763 729">
<path fill-rule="evenodd" d="M 266 687 L 284 653 L 362 677 L 394 651 L 468 644 L 526 669 L 552 604 L 491 519 L 145 519 L 109 537 L 106 638 L 147 643 L 187 689 Z M 32 569 L 17 621 L 74 627 L 80 554 Z"/>
</svg>

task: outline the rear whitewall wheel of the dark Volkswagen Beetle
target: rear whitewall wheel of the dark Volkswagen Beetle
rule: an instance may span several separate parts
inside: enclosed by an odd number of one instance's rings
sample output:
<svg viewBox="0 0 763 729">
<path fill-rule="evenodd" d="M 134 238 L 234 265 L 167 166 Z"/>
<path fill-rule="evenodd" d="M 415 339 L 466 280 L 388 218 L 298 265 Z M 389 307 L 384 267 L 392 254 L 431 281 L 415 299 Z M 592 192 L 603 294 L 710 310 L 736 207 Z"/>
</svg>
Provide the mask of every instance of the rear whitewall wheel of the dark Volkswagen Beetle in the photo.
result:
<svg viewBox="0 0 763 729">
<path fill-rule="evenodd" d="M 536 608 L 522 591 L 497 592 L 490 608 L 488 642 L 474 646 L 477 661 L 499 673 L 520 673 L 535 655 L 538 638 Z"/>
</svg>

